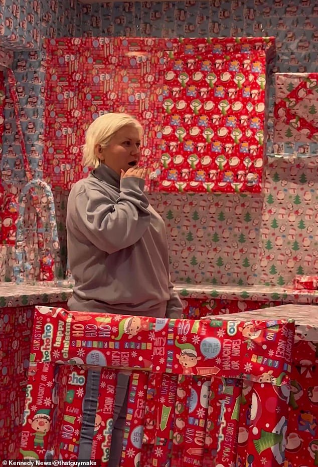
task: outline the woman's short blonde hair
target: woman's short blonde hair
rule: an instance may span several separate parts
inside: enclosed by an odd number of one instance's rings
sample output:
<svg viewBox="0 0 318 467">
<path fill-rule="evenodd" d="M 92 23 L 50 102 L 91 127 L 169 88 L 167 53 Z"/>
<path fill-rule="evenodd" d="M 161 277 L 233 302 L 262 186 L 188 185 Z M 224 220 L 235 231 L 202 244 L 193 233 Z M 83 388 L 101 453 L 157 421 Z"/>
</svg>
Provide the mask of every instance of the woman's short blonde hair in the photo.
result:
<svg viewBox="0 0 318 467">
<path fill-rule="evenodd" d="M 101 115 L 91 123 L 86 131 L 85 144 L 83 146 L 83 165 L 86 167 L 97 167 L 99 159 L 95 155 L 96 144 L 104 149 L 114 134 L 123 126 L 132 125 L 142 138 L 142 126 L 134 117 L 124 113 L 108 113 Z"/>
</svg>

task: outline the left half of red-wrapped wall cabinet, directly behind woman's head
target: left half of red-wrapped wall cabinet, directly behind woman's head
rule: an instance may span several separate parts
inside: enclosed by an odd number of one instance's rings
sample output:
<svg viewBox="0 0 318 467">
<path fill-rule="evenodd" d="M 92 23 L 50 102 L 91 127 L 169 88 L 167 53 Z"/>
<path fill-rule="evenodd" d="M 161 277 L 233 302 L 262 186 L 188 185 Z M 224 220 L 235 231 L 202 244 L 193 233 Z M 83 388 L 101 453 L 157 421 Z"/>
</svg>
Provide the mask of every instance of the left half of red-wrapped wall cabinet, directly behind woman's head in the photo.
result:
<svg viewBox="0 0 318 467">
<path fill-rule="evenodd" d="M 126 112 L 144 128 L 141 160 L 160 160 L 164 39 L 61 38 L 45 42 L 44 176 L 69 190 L 88 175 L 81 147 L 90 123 L 106 112 Z"/>
</svg>

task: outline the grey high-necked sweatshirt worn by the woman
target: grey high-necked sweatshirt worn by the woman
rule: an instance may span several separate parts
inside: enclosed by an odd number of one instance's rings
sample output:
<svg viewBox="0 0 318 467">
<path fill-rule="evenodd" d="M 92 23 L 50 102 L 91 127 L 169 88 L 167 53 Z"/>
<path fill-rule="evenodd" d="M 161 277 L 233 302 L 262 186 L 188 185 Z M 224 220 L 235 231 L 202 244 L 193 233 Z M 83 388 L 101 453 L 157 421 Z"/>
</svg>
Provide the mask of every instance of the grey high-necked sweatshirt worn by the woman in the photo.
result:
<svg viewBox="0 0 318 467">
<path fill-rule="evenodd" d="M 180 318 L 170 280 L 165 223 L 143 193 L 101 164 L 71 189 L 67 248 L 75 280 L 71 310 Z"/>
</svg>

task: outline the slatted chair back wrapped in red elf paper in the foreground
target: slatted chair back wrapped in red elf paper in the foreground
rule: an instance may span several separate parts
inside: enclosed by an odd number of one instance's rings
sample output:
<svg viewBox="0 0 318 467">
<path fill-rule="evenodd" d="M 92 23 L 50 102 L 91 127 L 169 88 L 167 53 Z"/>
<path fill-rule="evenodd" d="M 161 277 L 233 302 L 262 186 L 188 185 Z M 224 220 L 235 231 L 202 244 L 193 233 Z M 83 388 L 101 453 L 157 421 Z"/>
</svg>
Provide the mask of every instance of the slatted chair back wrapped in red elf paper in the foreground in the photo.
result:
<svg viewBox="0 0 318 467">
<path fill-rule="evenodd" d="M 292 320 L 169 320 L 38 306 L 30 359 L 39 367 L 29 376 L 21 455 L 76 458 L 88 365 L 108 378 L 95 418 L 94 452 L 103 465 L 120 369 L 132 370 L 123 467 L 132 460 L 208 467 L 215 458 L 244 465 L 258 456 L 280 465 L 293 341 Z"/>
</svg>

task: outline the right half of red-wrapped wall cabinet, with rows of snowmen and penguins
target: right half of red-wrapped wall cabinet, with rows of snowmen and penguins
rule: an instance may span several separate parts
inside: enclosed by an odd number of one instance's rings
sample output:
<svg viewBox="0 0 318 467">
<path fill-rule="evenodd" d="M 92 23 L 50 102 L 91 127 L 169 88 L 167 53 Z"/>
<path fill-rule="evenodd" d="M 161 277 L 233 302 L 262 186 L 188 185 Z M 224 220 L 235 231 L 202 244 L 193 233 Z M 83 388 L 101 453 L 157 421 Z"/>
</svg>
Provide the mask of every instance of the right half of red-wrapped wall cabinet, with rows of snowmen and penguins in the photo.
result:
<svg viewBox="0 0 318 467">
<path fill-rule="evenodd" d="M 183 39 L 166 56 L 160 190 L 262 191 L 272 38 Z"/>
</svg>

